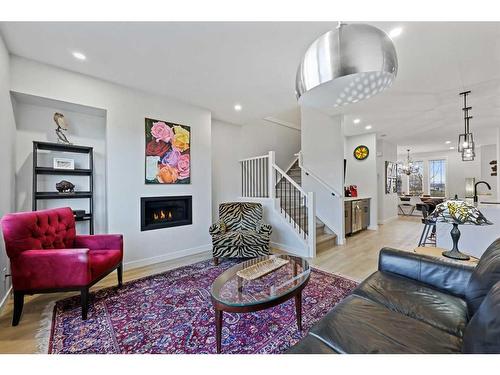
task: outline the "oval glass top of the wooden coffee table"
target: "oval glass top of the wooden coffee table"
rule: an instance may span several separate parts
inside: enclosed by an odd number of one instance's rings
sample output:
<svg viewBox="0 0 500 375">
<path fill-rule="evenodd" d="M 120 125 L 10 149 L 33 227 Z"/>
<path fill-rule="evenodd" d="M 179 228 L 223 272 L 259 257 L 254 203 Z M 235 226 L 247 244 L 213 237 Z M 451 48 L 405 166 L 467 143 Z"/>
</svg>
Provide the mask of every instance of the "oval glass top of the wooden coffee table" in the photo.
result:
<svg viewBox="0 0 500 375">
<path fill-rule="evenodd" d="M 237 274 L 265 260 L 276 260 L 273 258 L 287 262 L 254 280 L 247 280 Z M 224 271 L 215 279 L 210 292 L 215 300 L 228 306 L 257 305 L 293 292 L 307 282 L 310 272 L 309 263 L 303 258 L 268 255 L 247 260 Z"/>
</svg>

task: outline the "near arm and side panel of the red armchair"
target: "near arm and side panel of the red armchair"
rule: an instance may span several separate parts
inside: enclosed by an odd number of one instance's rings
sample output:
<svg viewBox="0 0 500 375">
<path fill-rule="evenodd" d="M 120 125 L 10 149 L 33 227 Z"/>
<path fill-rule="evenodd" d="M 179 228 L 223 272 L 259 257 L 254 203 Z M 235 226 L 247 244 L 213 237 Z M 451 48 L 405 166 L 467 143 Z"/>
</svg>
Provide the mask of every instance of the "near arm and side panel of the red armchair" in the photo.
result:
<svg viewBox="0 0 500 375">
<path fill-rule="evenodd" d="M 26 250 L 12 259 L 16 290 L 85 286 L 90 282 L 89 249 Z"/>
</svg>

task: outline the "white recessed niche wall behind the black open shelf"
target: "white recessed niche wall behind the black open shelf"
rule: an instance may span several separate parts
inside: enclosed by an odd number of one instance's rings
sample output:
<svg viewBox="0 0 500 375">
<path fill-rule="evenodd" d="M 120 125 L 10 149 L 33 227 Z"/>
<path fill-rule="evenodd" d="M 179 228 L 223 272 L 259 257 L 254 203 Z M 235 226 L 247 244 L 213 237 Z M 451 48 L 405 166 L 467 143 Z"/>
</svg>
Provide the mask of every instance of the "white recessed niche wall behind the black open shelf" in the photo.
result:
<svg viewBox="0 0 500 375">
<path fill-rule="evenodd" d="M 33 141 L 56 142 L 53 121 L 54 112 L 61 112 L 69 129 L 68 139 L 76 145 L 94 148 L 94 232 L 107 233 L 106 217 L 106 112 L 88 107 L 68 105 L 36 96 L 13 94 L 16 119 L 16 211 L 32 209 Z M 38 153 L 38 165 L 52 167 L 54 157 L 75 160 L 75 168 L 88 168 L 86 154 L 60 152 Z M 68 180 L 75 184 L 76 191 L 89 190 L 87 176 L 38 176 L 39 191 L 56 191 L 55 183 Z M 40 200 L 37 208 L 69 206 L 89 211 L 88 199 Z M 78 233 L 88 233 L 89 222 L 77 222 Z"/>
</svg>

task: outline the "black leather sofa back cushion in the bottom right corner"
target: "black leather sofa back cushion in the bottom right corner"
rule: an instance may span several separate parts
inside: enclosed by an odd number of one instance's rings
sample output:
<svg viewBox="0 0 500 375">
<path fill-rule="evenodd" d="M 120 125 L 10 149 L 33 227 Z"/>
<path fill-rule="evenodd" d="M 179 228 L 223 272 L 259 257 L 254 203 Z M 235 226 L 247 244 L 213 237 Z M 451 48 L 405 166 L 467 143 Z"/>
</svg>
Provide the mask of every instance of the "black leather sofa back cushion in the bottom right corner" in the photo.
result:
<svg viewBox="0 0 500 375">
<path fill-rule="evenodd" d="M 467 325 L 464 353 L 500 353 L 500 282 L 484 298 Z"/>
</svg>

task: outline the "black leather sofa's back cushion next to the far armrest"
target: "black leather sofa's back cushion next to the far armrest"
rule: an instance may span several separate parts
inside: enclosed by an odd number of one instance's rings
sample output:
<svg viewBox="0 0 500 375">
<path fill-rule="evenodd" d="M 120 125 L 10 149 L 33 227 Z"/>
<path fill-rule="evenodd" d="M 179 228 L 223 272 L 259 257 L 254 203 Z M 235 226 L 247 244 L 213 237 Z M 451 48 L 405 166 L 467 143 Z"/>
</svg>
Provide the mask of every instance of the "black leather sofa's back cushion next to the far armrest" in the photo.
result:
<svg viewBox="0 0 500 375">
<path fill-rule="evenodd" d="M 486 294 L 498 281 L 500 281 L 500 238 L 486 249 L 470 277 L 465 292 L 469 316 L 474 315 Z"/>
</svg>

